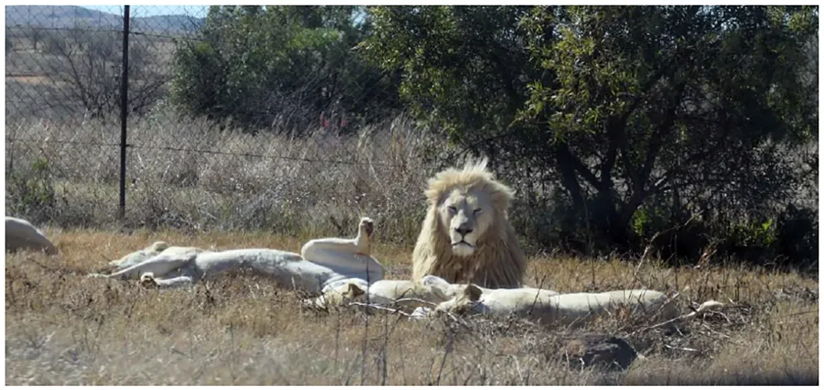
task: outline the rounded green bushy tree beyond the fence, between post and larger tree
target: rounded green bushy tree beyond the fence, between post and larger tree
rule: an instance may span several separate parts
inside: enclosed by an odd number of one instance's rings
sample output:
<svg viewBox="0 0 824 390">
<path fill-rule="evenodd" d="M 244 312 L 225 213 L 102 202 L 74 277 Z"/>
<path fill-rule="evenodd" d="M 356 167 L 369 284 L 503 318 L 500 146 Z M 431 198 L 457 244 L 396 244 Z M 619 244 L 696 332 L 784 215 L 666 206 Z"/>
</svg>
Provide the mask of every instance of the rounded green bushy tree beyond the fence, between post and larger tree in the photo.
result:
<svg viewBox="0 0 824 390">
<path fill-rule="evenodd" d="M 391 107 L 391 90 L 352 50 L 368 32 L 361 14 L 358 7 L 210 7 L 199 39 L 176 53 L 172 100 L 190 114 L 286 129 L 306 129 L 319 111 L 349 121 L 374 116 Z"/>
</svg>

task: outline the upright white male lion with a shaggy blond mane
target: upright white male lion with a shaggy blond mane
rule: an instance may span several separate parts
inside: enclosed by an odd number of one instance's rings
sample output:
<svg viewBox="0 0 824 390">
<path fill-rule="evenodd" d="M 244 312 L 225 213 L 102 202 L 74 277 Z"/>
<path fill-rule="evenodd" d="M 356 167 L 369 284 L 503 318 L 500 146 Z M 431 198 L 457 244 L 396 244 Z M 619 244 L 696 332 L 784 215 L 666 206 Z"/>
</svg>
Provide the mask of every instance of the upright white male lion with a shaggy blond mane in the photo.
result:
<svg viewBox="0 0 824 390">
<path fill-rule="evenodd" d="M 412 279 L 521 287 L 526 259 L 508 219 L 514 191 L 486 169 L 487 159 L 449 168 L 428 181 L 428 211 L 412 253 Z"/>
</svg>

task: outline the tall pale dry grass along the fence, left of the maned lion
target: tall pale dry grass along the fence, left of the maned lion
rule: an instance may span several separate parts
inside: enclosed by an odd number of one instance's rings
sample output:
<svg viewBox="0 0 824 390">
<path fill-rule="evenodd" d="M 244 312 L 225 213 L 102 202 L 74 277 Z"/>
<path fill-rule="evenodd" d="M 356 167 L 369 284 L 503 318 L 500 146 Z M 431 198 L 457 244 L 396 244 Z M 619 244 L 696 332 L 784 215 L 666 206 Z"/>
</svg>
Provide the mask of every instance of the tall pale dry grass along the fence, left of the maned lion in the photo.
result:
<svg viewBox="0 0 824 390">
<path fill-rule="evenodd" d="M 133 120 L 125 224 L 317 235 L 343 233 L 368 214 L 381 221 L 383 239 L 414 238 L 426 178 L 442 168 L 435 157 L 450 151 L 447 144 L 404 116 L 349 136 L 302 133 L 310 135 L 252 135 L 162 107 Z M 119 126 L 101 120 L 8 124 L 7 214 L 59 226 L 116 225 L 119 137 Z"/>
</svg>

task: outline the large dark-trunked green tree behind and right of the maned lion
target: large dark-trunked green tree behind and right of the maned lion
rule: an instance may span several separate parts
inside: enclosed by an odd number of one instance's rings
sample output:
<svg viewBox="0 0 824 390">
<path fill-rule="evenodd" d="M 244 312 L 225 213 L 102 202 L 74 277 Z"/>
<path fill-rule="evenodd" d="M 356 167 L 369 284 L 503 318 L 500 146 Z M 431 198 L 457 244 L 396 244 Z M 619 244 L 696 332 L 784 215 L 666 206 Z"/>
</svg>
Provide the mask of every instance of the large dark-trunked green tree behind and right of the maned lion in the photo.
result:
<svg viewBox="0 0 824 390">
<path fill-rule="evenodd" d="M 803 66 L 817 7 L 371 12 L 363 45 L 402 70 L 421 119 L 548 167 L 611 243 L 655 199 L 681 211 L 711 194 L 704 211 L 739 216 L 786 202 L 798 177 L 782 153 L 817 139 Z"/>
</svg>

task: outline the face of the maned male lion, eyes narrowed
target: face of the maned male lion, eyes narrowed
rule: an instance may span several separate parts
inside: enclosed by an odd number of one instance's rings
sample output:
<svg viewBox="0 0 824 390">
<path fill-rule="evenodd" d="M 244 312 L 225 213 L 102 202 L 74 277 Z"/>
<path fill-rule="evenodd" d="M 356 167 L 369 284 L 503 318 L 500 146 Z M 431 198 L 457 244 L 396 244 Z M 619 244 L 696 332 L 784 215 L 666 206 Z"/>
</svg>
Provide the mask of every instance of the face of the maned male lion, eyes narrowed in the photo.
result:
<svg viewBox="0 0 824 390">
<path fill-rule="evenodd" d="M 455 189 L 438 206 L 442 228 L 447 230 L 452 253 L 471 256 L 480 237 L 493 223 L 494 210 L 489 195 L 478 190 Z"/>
</svg>

